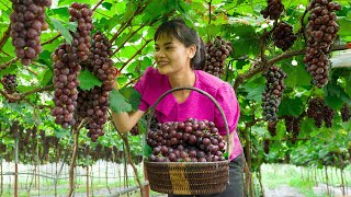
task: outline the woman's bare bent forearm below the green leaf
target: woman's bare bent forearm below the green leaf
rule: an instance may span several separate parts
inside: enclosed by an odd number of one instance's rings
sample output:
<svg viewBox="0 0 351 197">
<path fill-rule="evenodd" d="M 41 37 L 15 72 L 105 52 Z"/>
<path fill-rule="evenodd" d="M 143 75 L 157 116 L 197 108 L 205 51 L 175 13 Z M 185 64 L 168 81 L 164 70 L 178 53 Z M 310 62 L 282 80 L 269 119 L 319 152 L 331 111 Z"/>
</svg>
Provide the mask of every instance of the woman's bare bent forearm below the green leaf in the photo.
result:
<svg viewBox="0 0 351 197">
<path fill-rule="evenodd" d="M 133 126 L 145 114 L 143 111 L 135 111 L 132 113 L 115 113 L 112 112 L 112 120 L 114 125 L 117 127 L 117 130 L 122 134 L 129 131 Z"/>
</svg>

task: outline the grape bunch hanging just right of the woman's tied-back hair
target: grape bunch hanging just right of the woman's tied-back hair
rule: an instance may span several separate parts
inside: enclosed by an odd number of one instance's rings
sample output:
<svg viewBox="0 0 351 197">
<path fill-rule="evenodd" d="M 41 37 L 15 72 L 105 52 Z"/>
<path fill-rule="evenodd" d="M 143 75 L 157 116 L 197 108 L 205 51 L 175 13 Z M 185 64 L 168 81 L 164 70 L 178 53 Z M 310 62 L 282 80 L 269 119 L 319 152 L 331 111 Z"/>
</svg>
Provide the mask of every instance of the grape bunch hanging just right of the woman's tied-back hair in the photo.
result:
<svg viewBox="0 0 351 197">
<path fill-rule="evenodd" d="M 220 36 L 217 36 L 213 43 L 207 43 L 204 71 L 220 77 L 224 73 L 225 61 L 233 50 L 231 43 Z"/>
</svg>

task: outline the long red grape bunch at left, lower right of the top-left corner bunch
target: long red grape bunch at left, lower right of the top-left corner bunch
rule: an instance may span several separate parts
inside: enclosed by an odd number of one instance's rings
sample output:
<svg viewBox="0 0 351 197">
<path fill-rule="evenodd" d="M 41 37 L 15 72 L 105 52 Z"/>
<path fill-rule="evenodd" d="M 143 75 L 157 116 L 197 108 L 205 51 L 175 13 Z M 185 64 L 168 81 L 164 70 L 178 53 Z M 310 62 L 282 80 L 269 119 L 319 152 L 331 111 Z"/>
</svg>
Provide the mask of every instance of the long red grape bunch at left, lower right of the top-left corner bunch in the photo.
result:
<svg viewBox="0 0 351 197">
<path fill-rule="evenodd" d="M 52 59 L 54 60 L 53 82 L 55 85 L 55 108 L 52 115 L 56 117 L 56 124 L 68 128 L 69 125 L 76 124 L 73 114 L 77 107 L 78 76 L 81 66 L 77 63 L 77 54 L 72 53 L 71 47 L 67 44 L 59 45 L 52 55 Z"/>
</svg>

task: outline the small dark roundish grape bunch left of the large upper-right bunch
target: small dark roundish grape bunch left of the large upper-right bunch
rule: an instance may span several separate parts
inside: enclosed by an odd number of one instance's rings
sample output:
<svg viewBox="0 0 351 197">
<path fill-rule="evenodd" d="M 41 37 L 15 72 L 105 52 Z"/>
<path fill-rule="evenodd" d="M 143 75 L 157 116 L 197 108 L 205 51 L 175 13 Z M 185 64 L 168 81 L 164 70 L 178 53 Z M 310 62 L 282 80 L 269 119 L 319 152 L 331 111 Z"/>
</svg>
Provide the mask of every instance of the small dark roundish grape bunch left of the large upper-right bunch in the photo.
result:
<svg viewBox="0 0 351 197">
<path fill-rule="evenodd" d="M 278 27 L 273 31 L 274 45 L 285 51 L 293 46 L 295 40 L 296 36 L 293 33 L 293 26 L 284 22 L 279 23 Z"/>
</svg>

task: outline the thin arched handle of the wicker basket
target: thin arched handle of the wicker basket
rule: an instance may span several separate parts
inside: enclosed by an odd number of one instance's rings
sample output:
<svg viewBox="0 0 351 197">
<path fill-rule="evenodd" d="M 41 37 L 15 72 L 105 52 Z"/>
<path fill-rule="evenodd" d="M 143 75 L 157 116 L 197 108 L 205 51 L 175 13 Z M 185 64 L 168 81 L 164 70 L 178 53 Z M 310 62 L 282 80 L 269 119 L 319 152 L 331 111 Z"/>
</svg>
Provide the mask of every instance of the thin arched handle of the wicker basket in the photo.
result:
<svg viewBox="0 0 351 197">
<path fill-rule="evenodd" d="M 156 109 L 156 106 L 163 100 L 165 96 L 167 96 L 168 94 L 172 93 L 172 92 L 176 92 L 176 91 L 181 91 L 181 90 L 193 90 L 193 91 L 196 91 L 205 96 L 207 96 L 215 105 L 216 107 L 218 108 L 220 115 L 222 115 L 222 118 L 224 120 L 224 124 L 225 124 L 225 127 L 226 127 L 226 136 L 227 136 L 227 143 L 229 142 L 229 127 L 228 127 L 228 123 L 227 123 L 227 118 L 226 116 L 224 115 L 224 112 L 223 112 L 223 108 L 222 106 L 218 104 L 218 102 L 212 96 L 210 95 L 207 92 L 203 91 L 203 90 L 200 90 L 197 88 L 193 88 L 193 86 L 181 86 L 181 88 L 173 88 L 171 90 L 168 90 L 167 92 L 165 92 L 155 103 L 152 106 L 150 106 L 149 111 L 150 111 L 150 115 L 148 116 L 147 118 L 147 131 L 150 130 L 150 125 L 151 125 L 151 118 L 155 114 L 155 109 Z M 227 144 L 227 152 L 229 153 L 229 146 Z M 229 158 L 230 155 L 228 155 Z"/>
</svg>

